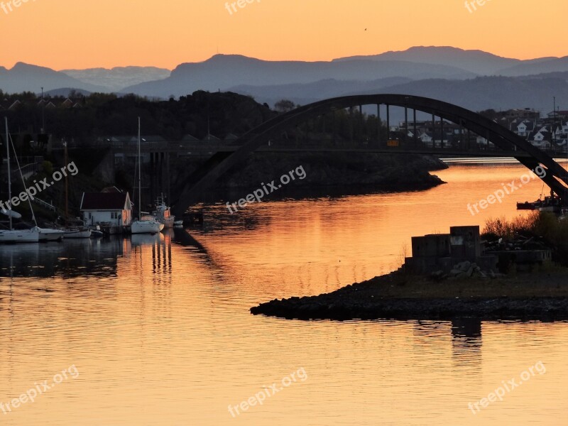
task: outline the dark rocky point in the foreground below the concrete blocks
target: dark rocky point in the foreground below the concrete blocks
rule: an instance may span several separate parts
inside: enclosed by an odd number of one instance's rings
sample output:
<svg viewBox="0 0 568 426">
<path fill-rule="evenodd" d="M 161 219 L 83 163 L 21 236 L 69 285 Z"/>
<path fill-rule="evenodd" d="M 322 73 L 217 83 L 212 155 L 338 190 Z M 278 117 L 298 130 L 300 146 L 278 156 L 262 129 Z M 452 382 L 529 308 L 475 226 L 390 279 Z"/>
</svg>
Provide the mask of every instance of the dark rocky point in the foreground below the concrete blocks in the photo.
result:
<svg viewBox="0 0 568 426">
<path fill-rule="evenodd" d="M 392 273 L 333 293 L 272 300 L 251 313 L 288 320 L 568 320 L 567 278 L 560 271 L 435 283 Z"/>
</svg>

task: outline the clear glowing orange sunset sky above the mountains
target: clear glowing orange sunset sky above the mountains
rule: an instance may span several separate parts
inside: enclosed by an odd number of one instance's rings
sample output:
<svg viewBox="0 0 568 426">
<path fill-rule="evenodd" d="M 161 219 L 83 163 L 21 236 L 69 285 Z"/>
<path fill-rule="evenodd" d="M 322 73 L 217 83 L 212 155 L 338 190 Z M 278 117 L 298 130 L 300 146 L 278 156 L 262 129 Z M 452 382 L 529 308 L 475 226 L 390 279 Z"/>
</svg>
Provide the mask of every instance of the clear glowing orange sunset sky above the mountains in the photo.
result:
<svg viewBox="0 0 568 426">
<path fill-rule="evenodd" d="M 568 55 L 566 0 L 486 0 L 472 13 L 464 0 L 254 0 L 232 15 L 224 0 L 28 0 L 12 11 L 9 1 L 0 9 L 5 67 L 173 68 L 217 52 L 330 60 L 413 45 Z"/>
</svg>

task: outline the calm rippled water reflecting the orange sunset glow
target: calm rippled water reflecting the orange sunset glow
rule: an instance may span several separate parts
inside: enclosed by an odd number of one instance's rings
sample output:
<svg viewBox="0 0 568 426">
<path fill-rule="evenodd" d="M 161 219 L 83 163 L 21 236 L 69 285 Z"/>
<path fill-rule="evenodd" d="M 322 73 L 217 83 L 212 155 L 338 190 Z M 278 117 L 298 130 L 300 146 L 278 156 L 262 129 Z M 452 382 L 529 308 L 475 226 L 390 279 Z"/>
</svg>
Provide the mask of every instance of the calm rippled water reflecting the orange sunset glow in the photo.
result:
<svg viewBox="0 0 568 426">
<path fill-rule="evenodd" d="M 388 273 L 410 237 L 514 217 L 533 181 L 471 216 L 518 165 L 453 165 L 425 192 L 206 206 L 204 229 L 0 246 L 0 402 L 50 390 L 2 425 L 567 425 L 568 323 L 297 322 L 275 297 Z M 542 361 L 474 415 L 468 403 Z M 55 374 L 79 373 L 53 385 Z M 245 413 L 229 405 L 296 381 Z M 71 371 L 71 370 L 67 370 Z M 75 370 L 73 370 L 75 371 Z"/>
</svg>

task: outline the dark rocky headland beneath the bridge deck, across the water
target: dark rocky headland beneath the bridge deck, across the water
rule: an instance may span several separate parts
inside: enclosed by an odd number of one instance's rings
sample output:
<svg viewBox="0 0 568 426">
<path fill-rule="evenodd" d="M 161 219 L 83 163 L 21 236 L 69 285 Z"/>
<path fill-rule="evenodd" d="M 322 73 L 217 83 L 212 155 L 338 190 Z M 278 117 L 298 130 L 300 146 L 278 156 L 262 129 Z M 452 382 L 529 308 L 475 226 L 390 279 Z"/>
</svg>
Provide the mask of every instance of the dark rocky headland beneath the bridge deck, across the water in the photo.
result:
<svg viewBox="0 0 568 426">
<path fill-rule="evenodd" d="M 184 160 L 173 168 L 174 181 L 186 182 L 202 163 L 202 160 L 194 163 Z M 258 152 L 229 170 L 216 182 L 214 191 L 251 192 L 261 182 L 278 180 L 300 165 L 305 170 L 305 178 L 295 179 L 283 191 L 321 196 L 427 190 L 444 183 L 431 172 L 448 168 L 432 155 Z"/>
</svg>

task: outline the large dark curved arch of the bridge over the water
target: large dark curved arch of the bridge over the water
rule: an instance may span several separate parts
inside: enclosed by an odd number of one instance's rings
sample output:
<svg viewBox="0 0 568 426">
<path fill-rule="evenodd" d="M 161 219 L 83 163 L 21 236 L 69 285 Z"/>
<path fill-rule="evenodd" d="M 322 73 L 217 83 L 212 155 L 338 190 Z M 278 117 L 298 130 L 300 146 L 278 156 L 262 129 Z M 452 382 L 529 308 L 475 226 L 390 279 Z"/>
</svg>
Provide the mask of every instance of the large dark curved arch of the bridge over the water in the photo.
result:
<svg viewBox="0 0 568 426">
<path fill-rule="evenodd" d="M 488 141 L 503 150 L 510 150 L 524 153 L 525 155 L 515 157 L 526 168 L 534 170 L 537 166 L 542 166 L 546 170 L 546 176 L 542 180 L 562 198 L 564 204 L 568 200 L 568 178 L 567 171 L 562 168 L 550 155 L 540 151 L 539 148 L 532 146 L 521 136 L 505 129 L 490 119 L 477 114 L 474 111 L 459 107 L 448 102 L 426 97 L 410 96 L 405 94 L 363 94 L 347 97 L 336 97 L 323 101 L 307 104 L 303 107 L 293 109 L 285 114 L 270 119 L 255 129 L 249 131 L 239 138 L 236 143 L 241 145 L 233 153 L 226 155 L 218 163 L 212 162 L 205 165 L 204 170 L 195 178 L 195 182 L 187 182 L 173 211 L 181 215 L 190 207 L 190 204 L 197 201 L 200 193 L 211 186 L 212 183 L 221 177 L 227 170 L 234 165 L 245 160 L 246 156 L 257 148 L 268 143 L 273 138 L 280 136 L 285 129 L 296 126 L 303 121 L 316 118 L 336 110 L 365 105 L 387 105 L 389 107 L 405 107 L 422 111 L 440 119 L 446 119 L 457 124 L 461 124 L 464 129 L 469 129 L 478 135 L 484 136 Z M 529 155 L 529 156 L 526 156 Z"/>
</svg>

